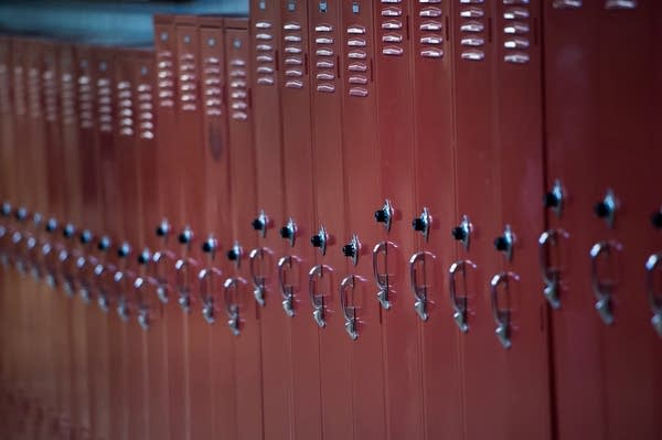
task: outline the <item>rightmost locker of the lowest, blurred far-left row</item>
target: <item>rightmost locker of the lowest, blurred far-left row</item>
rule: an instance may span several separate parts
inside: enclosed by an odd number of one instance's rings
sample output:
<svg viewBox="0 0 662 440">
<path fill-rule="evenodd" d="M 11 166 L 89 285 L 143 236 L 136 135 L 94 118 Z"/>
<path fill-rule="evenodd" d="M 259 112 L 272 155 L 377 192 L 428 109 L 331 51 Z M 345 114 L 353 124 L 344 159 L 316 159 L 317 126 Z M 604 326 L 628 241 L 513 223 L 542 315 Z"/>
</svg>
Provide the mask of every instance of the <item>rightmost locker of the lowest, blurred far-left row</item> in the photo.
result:
<svg viewBox="0 0 662 440">
<path fill-rule="evenodd" d="M 163 423 L 168 418 L 168 369 L 167 334 L 163 321 L 164 304 L 158 296 L 158 272 L 153 264 L 153 253 L 160 246 L 159 237 L 153 232 L 161 219 L 163 200 L 162 186 L 158 182 L 156 162 L 158 158 L 156 130 L 156 93 L 154 93 L 154 53 L 136 52 L 134 58 L 134 94 L 136 125 L 136 167 L 140 187 L 140 224 L 139 248 L 136 259 L 141 266 L 140 277 L 134 288 L 136 312 L 134 319 L 142 328 L 142 340 L 146 348 L 146 369 L 143 377 L 145 394 L 142 405 L 147 409 L 145 419 L 147 437 L 168 439 L 169 427 Z"/>
</svg>

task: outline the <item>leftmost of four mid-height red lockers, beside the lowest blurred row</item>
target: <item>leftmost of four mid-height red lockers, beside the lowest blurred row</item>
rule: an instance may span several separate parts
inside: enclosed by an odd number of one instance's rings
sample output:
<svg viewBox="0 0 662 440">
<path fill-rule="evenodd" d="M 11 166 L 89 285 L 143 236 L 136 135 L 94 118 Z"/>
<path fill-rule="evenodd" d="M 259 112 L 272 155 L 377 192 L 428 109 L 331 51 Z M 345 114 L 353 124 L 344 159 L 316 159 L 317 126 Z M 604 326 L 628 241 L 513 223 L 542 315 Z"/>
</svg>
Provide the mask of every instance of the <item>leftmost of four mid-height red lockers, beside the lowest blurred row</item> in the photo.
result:
<svg viewBox="0 0 662 440">
<path fill-rule="evenodd" d="M 178 142 L 178 45 L 173 15 L 154 15 L 157 119 L 156 141 L 160 154 L 156 160 L 162 200 L 162 212 L 154 232 L 161 238 L 152 262 L 157 291 L 163 302 L 163 321 L 167 339 L 169 431 L 171 439 L 183 439 L 185 410 L 183 313 L 178 303 L 179 292 L 174 288 L 174 266 L 179 254 L 175 228 L 181 221 L 181 174 Z"/>
</svg>

